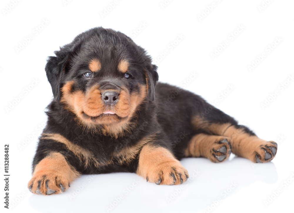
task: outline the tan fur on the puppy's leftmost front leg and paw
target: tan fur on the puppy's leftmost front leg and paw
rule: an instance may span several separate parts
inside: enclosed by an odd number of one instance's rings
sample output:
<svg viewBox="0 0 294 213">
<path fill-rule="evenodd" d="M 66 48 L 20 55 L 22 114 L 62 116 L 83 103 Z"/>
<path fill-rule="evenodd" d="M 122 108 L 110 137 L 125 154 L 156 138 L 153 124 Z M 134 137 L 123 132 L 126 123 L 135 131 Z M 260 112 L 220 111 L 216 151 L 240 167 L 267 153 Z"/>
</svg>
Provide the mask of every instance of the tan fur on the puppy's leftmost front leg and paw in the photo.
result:
<svg viewBox="0 0 294 213">
<path fill-rule="evenodd" d="M 36 190 L 39 190 L 40 193 L 46 195 L 47 183 L 48 189 L 55 191 L 53 194 L 58 194 L 62 192 L 59 184 L 62 184 L 66 190 L 79 175 L 80 173 L 66 162 L 62 154 L 52 152 L 35 166 L 28 188 L 31 187 L 32 193 L 37 194 Z M 39 181 L 41 184 L 38 189 Z"/>
</svg>

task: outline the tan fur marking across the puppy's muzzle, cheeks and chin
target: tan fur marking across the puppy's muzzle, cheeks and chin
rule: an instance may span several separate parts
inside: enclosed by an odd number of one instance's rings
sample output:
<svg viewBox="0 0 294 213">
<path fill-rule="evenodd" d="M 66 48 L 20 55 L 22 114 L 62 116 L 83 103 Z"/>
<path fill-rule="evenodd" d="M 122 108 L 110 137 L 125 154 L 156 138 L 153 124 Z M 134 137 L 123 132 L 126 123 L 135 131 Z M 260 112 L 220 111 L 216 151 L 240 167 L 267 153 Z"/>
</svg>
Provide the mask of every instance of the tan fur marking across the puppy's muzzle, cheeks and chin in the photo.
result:
<svg viewBox="0 0 294 213">
<path fill-rule="evenodd" d="M 106 108 L 106 105 L 101 100 L 98 86 L 92 86 L 86 93 L 82 91 L 71 93 L 70 90 L 73 84 L 74 81 L 68 81 L 61 89 L 61 102 L 66 104 L 66 109 L 75 113 L 78 117 L 77 122 L 80 122 L 82 125 L 86 125 L 88 128 L 94 130 L 96 130 L 97 124 L 103 125 L 102 133 L 110 134 L 115 138 L 123 136 L 124 130 L 128 132 L 133 127 L 134 124 L 129 122 L 129 120 L 137 116 L 135 111 L 138 110 L 138 105 L 147 96 L 146 85 L 140 85 L 140 92 L 132 94 L 128 92 L 127 88 L 121 88 L 119 101 L 114 106 L 108 106 Z M 97 117 L 108 110 L 112 110 L 116 115 L 124 119 L 119 120 L 116 117 L 109 116 L 93 121 L 91 118 L 83 116 L 83 113 L 85 113 L 88 116 Z"/>
</svg>

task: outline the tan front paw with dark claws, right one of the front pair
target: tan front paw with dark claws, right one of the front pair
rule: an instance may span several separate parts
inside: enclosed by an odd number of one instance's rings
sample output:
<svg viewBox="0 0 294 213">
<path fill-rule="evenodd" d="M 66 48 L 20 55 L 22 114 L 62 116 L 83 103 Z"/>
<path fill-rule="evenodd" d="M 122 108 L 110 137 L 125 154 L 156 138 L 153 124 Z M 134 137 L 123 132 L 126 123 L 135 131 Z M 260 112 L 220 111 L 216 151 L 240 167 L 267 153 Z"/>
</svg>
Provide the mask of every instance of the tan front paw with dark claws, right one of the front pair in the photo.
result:
<svg viewBox="0 0 294 213">
<path fill-rule="evenodd" d="M 146 180 L 157 185 L 178 185 L 188 180 L 188 171 L 174 159 L 155 165 L 152 171 L 148 171 Z"/>
</svg>

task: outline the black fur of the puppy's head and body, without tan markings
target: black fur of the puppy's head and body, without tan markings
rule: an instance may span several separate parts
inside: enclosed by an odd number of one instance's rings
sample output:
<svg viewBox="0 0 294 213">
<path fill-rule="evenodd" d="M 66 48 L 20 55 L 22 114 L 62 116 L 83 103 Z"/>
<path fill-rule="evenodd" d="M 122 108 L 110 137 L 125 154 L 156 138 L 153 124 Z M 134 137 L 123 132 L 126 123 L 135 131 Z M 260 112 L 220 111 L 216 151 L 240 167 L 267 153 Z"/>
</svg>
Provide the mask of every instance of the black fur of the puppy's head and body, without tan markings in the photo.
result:
<svg viewBox="0 0 294 213">
<path fill-rule="evenodd" d="M 158 81 L 157 66 L 151 64 L 151 57 L 146 51 L 136 45 L 131 38 L 111 29 L 93 28 L 78 35 L 73 42 L 61 47 L 55 52 L 56 57 L 49 57 L 46 74 L 51 84 L 54 100 L 48 106 L 48 122 L 43 133 L 59 133 L 70 142 L 90 150 L 99 162 L 108 162 L 113 158 L 113 152 L 119 152 L 132 146 L 146 136 L 154 136 L 152 144 L 171 150 L 177 159 L 184 157 L 191 137 L 207 132 L 206 129 L 195 129 L 191 124 L 193 116 L 201 116 L 203 120 L 213 123 L 231 123 L 237 128 L 243 128 L 254 135 L 246 127 L 238 126 L 230 116 L 208 104 L 200 96 L 181 88 L 162 84 Z M 88 70 L 88 62 L 92 58 L 101 61 L 102 68 L 96 76 L 88 81 L 83 73 Z M 121 59 L 128 59 L 130 79 L 116 71 Z M 110 77 L 108 77 L 110 76 Z M 147 80 L 146 80 L 147 79 Z M 74 81 L 71 92 L 86 92 L 90 86 L 110 82 L 118 87 L 126 86 L 130 92 L 139 91 L 140 85 L 148 85 L 146 100 L 142 101 L 130 123 L 134 125 L 124 130 L 123 134 L 114 137 L 103 133 L 103 125 L 96 129 L 81 125 L 77 116 L 61 102 L 61 88 L 68 81 Z M 173 98 L 171 98 L 171 96 Z M 211 108 L 209 113 L 205 110 Z M 184 135 L 180 142 L 177 138 Z M 50 139 L 39 140 L 33 166 L 43 159 L 50 151 L 57 151 L 66 156 L 67 161 L 83 174 L 135 172 L 138 166 L 138 156 L 130 163 L 121 164 L 113 158 L 113 163 L 99 168 L 91 165 L 86 168 L 74 153 L 59 142 Z"/>
</svg>

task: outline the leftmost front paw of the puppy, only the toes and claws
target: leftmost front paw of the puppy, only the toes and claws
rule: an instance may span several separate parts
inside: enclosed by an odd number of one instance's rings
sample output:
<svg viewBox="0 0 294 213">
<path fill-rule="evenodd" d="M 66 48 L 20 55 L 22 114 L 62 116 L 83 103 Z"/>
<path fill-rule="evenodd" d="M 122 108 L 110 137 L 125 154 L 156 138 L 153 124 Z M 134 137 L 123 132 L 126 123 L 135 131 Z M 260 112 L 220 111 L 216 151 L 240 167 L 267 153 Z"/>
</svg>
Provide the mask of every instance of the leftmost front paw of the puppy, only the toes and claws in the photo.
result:
<svg viewBox="0 0 294 213">
<path fill-rule="evenodd" d="M 69 180 L 54 173 L 36 174 L 28 184 L 30 192 L 40 195 L 51 195 L 63 192 L 70 187 Z"/>
</svg>

